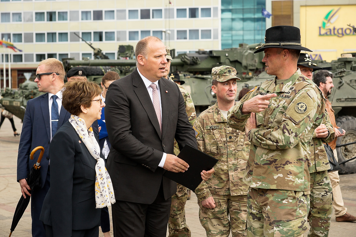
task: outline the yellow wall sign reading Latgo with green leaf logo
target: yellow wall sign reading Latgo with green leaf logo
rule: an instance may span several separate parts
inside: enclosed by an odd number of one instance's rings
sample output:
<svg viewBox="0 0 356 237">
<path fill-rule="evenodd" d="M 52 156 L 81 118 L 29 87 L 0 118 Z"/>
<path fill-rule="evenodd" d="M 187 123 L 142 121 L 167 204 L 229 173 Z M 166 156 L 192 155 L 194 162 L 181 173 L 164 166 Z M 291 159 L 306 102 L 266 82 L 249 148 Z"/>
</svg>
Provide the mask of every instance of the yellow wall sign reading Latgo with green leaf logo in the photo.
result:
<svg viewBox="0 0 356 237">
<path fill-rule="evenodd" d="M 356 5 L 300 6 L 302 45 L 313 60 L 336 60 L 356 52 Z"/>
</svg>

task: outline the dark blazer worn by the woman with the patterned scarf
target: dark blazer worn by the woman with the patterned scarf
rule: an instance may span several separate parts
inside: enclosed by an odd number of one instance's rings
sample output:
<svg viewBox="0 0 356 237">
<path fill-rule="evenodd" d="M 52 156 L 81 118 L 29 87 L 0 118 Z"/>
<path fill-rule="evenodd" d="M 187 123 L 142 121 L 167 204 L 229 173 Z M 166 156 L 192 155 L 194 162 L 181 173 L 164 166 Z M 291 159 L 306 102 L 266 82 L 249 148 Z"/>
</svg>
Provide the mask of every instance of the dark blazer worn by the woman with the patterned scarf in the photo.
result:
<svg viewBox="0 0 356 237">
<path fill-rule="evenodd" d="M 49 158 L 51 187 L 40 220 L 52 226 L 53 236 L 59 237 L 98 226 L 101 209 L 95 208 L 96 160 L 69 121 L 54 135 Z"/>
</svg>

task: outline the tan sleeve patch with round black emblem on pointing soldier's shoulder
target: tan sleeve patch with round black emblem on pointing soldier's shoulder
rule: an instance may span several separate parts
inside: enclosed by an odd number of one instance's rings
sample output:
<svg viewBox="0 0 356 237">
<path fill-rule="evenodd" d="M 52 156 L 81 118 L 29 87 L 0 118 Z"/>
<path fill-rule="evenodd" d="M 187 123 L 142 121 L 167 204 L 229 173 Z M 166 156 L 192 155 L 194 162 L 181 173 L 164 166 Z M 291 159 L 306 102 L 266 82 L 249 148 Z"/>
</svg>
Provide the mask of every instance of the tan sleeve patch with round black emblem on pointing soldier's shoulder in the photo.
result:
<svg viewBox="0 0 356 237">
<path fill-rule="evenodd" d="M 305 92 L 288 106 L 286 115 L 291 118 L 294 123 L 299 123 L 313 111 L 315 106 L 317 105 L 314 105 L 312 98 Z"/>
</svg>

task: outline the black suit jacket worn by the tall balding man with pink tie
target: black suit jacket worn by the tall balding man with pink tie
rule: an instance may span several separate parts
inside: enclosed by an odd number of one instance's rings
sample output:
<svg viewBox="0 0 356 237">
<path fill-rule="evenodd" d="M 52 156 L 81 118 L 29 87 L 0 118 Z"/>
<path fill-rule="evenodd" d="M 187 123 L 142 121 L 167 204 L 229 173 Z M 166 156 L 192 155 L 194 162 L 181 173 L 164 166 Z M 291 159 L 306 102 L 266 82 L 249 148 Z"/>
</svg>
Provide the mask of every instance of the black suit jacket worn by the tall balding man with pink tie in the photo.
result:
<svg viewBox="0 0 356 237">
<path fill-rule="evenodd" d="M 158 85 L 162 134 L 137 69 L 112 82 L 106 94 L 105 123 L 111 142 L 107 167 L 116 200 L 151 204 L 162 181 L 164 197 L 170 198 L 177 184 L 164 177 L 164 169 L 158 167 L 163 152 L 173 154 L 174 138 L 180 149 L 185 144 L 197 147 L 178 86 L 166 79 L 160 79 Z"/>
</svg>

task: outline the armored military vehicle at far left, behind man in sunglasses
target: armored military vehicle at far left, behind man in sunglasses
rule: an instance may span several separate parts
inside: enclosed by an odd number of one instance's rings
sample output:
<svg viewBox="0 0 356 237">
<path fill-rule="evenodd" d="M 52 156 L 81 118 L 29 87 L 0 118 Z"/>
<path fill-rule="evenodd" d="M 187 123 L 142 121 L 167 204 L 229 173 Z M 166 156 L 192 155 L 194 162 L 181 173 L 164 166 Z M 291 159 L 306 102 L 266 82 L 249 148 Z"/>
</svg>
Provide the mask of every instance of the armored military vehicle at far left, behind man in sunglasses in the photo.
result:
<svg viewBox="0 0 356 237">
<path fill-rule="evenodd" d="M 7 111 L 23 120 L 27 101 L 43 94 L 43 92 L 38 91 L 36 82 L 27 80 L 20 84 L 19 89 L 2 88 L 0 104 Z"/>
</svg>

